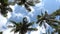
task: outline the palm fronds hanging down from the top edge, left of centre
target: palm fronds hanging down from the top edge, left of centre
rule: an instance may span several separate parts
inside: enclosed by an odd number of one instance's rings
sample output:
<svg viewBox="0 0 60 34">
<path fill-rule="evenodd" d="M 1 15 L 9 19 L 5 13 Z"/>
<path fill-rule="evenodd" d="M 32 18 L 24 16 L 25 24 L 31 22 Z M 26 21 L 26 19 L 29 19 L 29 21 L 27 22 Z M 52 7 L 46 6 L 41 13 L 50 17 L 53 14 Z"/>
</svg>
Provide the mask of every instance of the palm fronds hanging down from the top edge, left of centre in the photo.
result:
<svg viewBox="0 0 60 34">
<path fill-rule="evenodd" d="M 18 5 L 24 5 L 28 11 L 31 11 L 31 8 L 29 6 L 34 6 L 39 2 L 39 0 L 15 0 L 15 3 L 17 3 Z"/>
</svg>

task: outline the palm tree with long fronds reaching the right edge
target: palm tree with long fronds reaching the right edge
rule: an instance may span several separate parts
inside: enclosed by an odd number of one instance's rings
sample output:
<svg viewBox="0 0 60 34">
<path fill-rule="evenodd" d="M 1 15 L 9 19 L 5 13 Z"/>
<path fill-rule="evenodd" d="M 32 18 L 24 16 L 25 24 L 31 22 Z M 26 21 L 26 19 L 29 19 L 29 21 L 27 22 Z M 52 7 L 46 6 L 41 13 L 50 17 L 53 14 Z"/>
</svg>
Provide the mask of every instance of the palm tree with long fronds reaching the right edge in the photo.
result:
<svg viewBox="0 0 60 34">
<path fill-rule="evenodd" d="M 38 15 L 38 21 L 37 23 L 40 23 L 40 26 L 42 25 L 42 23 L 48 23 L 50 26 L 52 26 L 53 28 L 56 29 L 56 31 L 60 32 L 60 20 L 56 20 L 56 16 L 60 15 L 60 11 L 57 10 L 56 12 L 53 12 L 53 14 L 48 14 L 45 11 L 45 14 L 41 13 L 41 15 Z M 44 24 L 45 26 L 45 24 Z M 46 28 L 46 26 L 45 26 Z"/>
</svg>

